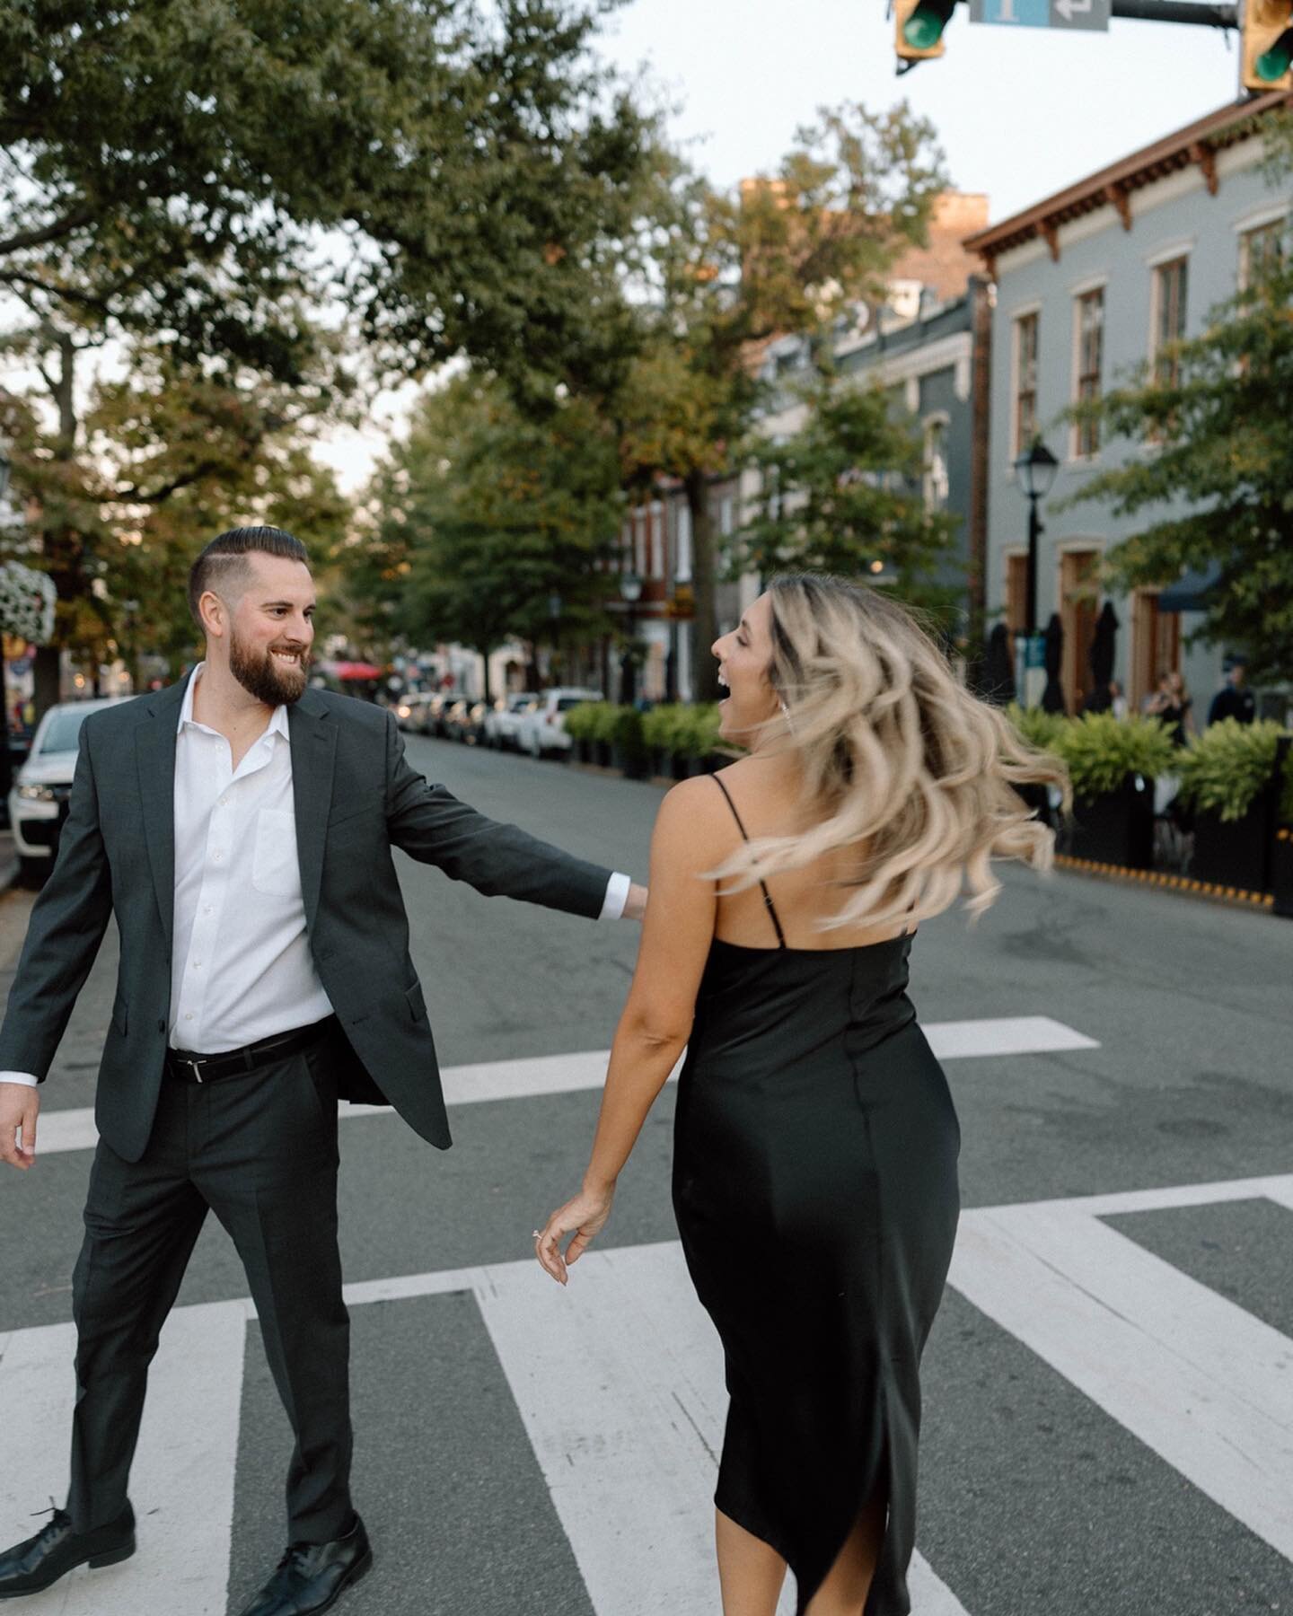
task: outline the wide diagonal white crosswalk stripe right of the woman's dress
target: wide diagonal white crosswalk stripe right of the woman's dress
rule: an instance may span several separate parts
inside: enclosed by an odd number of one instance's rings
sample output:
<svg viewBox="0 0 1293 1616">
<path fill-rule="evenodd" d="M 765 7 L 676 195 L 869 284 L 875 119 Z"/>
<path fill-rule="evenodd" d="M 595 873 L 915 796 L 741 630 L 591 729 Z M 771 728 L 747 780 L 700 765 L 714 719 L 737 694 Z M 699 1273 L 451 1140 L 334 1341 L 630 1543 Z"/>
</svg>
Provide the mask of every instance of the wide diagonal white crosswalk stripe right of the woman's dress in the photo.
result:
<svg viewBox="0 0 1293 1616">
<path fill-rule="evenodd" d="M 1083 1210 L 963 1214 L 950 1283 L 1293 1559 L 1293 1341 Z"/>
</svg>

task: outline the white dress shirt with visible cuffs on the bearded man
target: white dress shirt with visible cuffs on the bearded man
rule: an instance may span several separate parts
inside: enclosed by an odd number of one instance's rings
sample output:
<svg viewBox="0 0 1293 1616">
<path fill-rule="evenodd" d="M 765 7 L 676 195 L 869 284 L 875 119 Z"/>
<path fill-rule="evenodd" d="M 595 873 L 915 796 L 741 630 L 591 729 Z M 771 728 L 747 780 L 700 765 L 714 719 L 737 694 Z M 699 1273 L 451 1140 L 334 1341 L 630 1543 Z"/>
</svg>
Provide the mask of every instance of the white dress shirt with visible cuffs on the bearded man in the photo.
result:
<svg viewBox="0 0 1293 1616">
<path fill-rule="evenodd" d="M 168 1044 L 202 1055 L 331 1015 L 314 968 L 296 858 L 288 709 L 233 768 L 230 742 L 192 716 L 204 664 L 179 708 L 175 743 L 175 937 Z M 619 920 L 629 876 L 613 874 L 600 920 Z M 0 1071 L 0 1083 L 37 1079 Z"/>
</svg>

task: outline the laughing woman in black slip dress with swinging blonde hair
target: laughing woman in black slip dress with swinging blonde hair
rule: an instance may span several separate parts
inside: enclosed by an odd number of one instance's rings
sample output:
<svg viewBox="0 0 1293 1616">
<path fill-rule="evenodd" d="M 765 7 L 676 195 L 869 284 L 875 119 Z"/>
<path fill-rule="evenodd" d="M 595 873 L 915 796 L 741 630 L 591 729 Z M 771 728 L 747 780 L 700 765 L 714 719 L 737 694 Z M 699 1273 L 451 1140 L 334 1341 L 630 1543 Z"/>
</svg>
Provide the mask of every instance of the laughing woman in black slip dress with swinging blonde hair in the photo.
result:
<svg viewBox="0 0 1293 1616">
<path fill-rule="evenodd" d="M 674 1209 L 726 1353 L 722 1610 L 773 1616 L 789 1564 L 802 1616 L 905 1616 L 960 1144 L 907 958 L 967 879 L 992 902 L 989 856 L 1049 861 L 1010 787 L 1065 781 L 879 591 L 777 579 L 714 654 L 750 755 L 661 805 L 588 1172 L 538 1257 L 566 1283 L 689 1046 Z"/>
</svg>

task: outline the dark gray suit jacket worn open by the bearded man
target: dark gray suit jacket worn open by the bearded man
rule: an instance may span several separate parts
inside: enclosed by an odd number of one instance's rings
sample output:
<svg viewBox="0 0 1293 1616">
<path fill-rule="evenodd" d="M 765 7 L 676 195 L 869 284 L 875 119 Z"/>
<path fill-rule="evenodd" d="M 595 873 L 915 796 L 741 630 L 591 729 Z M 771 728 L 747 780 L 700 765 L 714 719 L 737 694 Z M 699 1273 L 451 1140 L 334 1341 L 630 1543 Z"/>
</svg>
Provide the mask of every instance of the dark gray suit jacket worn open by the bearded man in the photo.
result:
<svg viewBox="0 0 1293 1616">
<path fill-rule="evenodd" d="M 183 696 L 181 682 L 86 719 L 58 861 L 32 908 L 0 1029 L 0 1070 L 44 1079 L 115 913 L 121 966 L 95 1120 L 128 1162 L 149 1141 L 170 1025 Z M 391 847 L 478 892 L 588 918 L 611 871 L 428 785 L 381 708 L 307 690 L 288 729 L 310 952 L 351 1046 L 343 1094 L 390 1102 L 444 1149 L 444 1096 Z"/>
</svg>

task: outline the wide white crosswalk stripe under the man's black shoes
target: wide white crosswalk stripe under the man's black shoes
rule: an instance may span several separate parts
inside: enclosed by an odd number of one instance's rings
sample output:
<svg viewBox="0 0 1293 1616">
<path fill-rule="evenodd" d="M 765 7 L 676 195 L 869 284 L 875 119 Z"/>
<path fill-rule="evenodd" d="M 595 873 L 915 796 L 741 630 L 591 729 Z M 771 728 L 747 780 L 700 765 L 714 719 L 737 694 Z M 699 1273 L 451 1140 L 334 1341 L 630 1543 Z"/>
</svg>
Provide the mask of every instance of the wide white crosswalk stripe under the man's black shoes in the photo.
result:
<svg viewBox="0 0 1293 1616">
<path fill-rule="evenodd" d="M 225 1616 L 247 1312 L 241 1301 L 171 1312 L 131 1477 L 139 1553 L 71 1572 L 24 1600 L 24 1616 Z M 0 1542 L 31 1537 L 31 1511 L 66 1495 L 74 1345 L 71 1324 L 0 1336 Z"/>
</svg>

